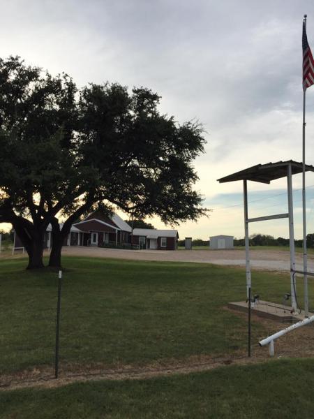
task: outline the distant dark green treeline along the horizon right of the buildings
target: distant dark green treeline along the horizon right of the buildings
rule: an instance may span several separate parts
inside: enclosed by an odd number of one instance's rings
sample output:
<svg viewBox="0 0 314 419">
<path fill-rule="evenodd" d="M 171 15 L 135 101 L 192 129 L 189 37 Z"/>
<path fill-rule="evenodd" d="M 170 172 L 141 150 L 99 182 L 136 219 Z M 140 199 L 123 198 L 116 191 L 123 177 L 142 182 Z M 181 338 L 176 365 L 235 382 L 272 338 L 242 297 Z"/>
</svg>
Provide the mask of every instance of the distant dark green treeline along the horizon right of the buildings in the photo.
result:
<svg viewBox="0 0 314 419">
<path fill-rule="evenodd" d="M 303 247 L 303 240 L 294 240 L 296 247 Z M 184 247 L 184 240 L 178 241 L 179 246 Z M 195 239 L 192 240 L 192 246 L 207 246 L 209 247 L 209 240 Z M 234 239 L 234 246 L 245 246 L 243 239 Z M 250 236 L 250 246 L 289 246 L 289 239 L 284 237 L 275 237 L 271 235 L 253 234 Z M 314 233 L 306 236 L 306 246 L 314 248 Z"/>
</svg>

